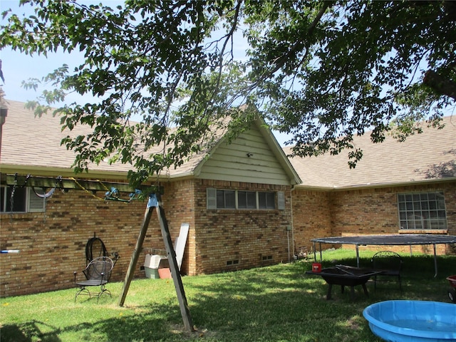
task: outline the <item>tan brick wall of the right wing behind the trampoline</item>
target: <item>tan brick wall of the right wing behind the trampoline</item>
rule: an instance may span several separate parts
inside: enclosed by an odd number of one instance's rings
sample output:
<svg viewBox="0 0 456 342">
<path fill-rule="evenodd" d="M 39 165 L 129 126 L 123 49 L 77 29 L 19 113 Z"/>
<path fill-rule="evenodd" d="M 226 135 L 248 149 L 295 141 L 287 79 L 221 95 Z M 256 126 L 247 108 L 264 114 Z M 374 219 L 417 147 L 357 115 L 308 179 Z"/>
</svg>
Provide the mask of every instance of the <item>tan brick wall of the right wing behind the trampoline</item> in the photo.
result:
<svg viewBox="0 0 456 342">
<path fill-rule="evenodd" d="M 404 233 L 400 232 L 398 224 L 397 194 L 432 191 L 443 191 L 445 194 L 448 229 L 447 232 L 437 233 L 456 235 L 456 182 L 333 192 L 294 190 L 292 194 L 296 246 L 308 246 L 310 239 L 316 237 Z M 323 249 L 330 247 L 333 246 L 322 245 Z M 343 247 L 355 248 L 353 245 Z M 367 246 L 360 249 L 410 252 L 409 246 Z M 413 246 L 412 249 L 413 252 L 433 253 L 432 245 Z M 437 245 L 437 254 L 451 253 L 451 246 Z"/>
</svg>

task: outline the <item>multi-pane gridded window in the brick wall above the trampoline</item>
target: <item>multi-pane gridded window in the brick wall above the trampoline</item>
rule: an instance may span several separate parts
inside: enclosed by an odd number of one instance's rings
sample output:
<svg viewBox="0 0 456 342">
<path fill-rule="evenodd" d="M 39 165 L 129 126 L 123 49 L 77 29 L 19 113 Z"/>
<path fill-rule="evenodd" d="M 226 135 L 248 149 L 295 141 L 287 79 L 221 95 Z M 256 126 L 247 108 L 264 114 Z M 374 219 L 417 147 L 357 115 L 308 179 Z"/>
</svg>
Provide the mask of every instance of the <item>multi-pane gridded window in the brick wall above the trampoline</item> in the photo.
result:
<svg viewBox="0 0 456 342">
<path fill-rule="evenodd" d="M 398 194 L 400 229 L 447 229 L 443 192 Z"/>
</svg>

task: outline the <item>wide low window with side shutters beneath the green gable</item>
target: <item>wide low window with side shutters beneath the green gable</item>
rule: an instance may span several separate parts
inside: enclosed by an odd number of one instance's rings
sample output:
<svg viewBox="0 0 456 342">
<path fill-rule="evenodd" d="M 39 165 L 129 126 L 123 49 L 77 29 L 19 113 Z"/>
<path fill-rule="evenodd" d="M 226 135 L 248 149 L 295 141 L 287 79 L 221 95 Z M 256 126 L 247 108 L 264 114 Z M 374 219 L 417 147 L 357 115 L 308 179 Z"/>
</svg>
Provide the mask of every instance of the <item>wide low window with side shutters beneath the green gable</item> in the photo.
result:
<svg viewBox="0 0 456 342">
<path fill-rule="evenodd" d="M 276 200 L 277 198 L 277 200 Z M 207 209 L 285 209 L 284 192 L 207 189 Z"/>
</svg>

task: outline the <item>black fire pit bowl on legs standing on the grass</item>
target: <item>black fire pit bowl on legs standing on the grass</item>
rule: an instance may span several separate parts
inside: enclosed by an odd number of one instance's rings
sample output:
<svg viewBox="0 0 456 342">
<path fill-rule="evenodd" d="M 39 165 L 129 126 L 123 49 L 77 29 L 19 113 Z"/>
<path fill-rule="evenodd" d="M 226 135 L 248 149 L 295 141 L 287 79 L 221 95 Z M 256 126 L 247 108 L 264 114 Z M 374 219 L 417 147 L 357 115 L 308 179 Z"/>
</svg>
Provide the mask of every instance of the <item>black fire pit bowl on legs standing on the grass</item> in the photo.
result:
<svg viewBox="0 0 456 342">
<path fill-rule="evenodd" d="M 381 271 L 373 271 L 371 269 L 360 269 L 358 267 L 351 267 L 345 265 L 336 265 L 334 267 L 328 267 L 321 269 L 320 272 L 306 271 L 306 274 L 315 276 L 321 276 L 328 283 L 328 293 L 326 299 L 331 299 L 331 290 L 333 285 L 341 285 L 341 291 L 343 293 L 345 286 L 351 287 L 351 299 L 355 297 L 355 286 L 363 286 L 364 294 L 368 295 L 368 289 L 366 283 L 375 274 L 380 274 Z"/>
</svg>

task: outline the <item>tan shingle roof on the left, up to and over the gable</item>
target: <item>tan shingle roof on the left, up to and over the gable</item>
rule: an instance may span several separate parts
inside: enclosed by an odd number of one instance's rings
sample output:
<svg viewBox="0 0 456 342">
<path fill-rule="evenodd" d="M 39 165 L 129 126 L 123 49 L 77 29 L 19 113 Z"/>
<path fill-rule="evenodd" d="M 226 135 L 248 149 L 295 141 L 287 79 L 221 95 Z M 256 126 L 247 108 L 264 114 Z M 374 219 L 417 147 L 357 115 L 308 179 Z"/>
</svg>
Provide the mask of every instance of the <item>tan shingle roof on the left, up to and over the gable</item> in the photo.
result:
<svg viewBox="0 0 456 342">
<path fill-rule="evenodd" d="M 92 132 L 92 128 L 88 125 L 76 125 L 72 131 L 61 131 L 61 118 L 54 117 L 51 114 L 42 115 L 41 118 L 36 118 L 31 110 L 24 108 L 24 103 L 8 100 L 9 108 L 6 123 L 3 127 L 3 137 L 1 142 L 1 172 L 16 173 L 16 172 L 32 172 L 33 170 L 55 175 L 68 176 L 73 175 L 71 165 L 75 160 L 75 154 L 72 150 L 67 150 L 65 146 L 61 146 L 61 140 L 67 135 L 87 135 Z M 279 144 L 269 130 L 262 129 L 260 122 L 261 134 L 264 135 L 265 141 L 269 145 L 271 152 L 276 155 L 276 158 L 281 163 L 282 167 L 290 175 L 294 182 L 299 182 L 299 177 L 296 175 L 291 163 L 284 155 Z M 222 141 L 222 129 L 214 130 L 215 138 L 218 142 Z M 162 147 L 153 147 L 148 152 L 159 152 Z M 214 152 L 217 145 L 211 147 L 212 150 L 200 152 L 197 155 L 192 155 L 188 160 L 177 167 L 170 167 L 170 170 L 162 171 L 162 177 L 187 177 L 194 176 L 195 170 L 199 170 L 205 162 L 205 156 L 208 152 Z M 108 162 L 100 162 L 99 165 L 89 165 L 88 177 L 113 177 L 115 179 L 125 179 L 128 170 L 131 170 L 132 165 L 123 165 L 120 162 L 109 165 Z"/>
</svg>

